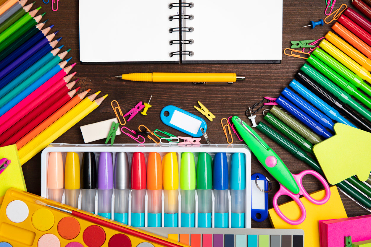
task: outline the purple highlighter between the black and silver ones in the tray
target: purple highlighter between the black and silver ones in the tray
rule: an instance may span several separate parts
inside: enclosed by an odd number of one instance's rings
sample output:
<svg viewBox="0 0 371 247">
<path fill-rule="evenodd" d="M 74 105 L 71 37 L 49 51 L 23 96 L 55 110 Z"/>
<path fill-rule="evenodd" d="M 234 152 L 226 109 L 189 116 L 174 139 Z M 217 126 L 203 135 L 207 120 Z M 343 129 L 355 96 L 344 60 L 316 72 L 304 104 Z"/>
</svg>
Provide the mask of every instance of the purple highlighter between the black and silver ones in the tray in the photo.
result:
<svg viewBox="0 0 371 247">
<path fill-rule="evenodd" d="M 98 163 L 98 215 L 111 219 L 113 193 L 112 154 L 102 152 Z"/>
</svg>

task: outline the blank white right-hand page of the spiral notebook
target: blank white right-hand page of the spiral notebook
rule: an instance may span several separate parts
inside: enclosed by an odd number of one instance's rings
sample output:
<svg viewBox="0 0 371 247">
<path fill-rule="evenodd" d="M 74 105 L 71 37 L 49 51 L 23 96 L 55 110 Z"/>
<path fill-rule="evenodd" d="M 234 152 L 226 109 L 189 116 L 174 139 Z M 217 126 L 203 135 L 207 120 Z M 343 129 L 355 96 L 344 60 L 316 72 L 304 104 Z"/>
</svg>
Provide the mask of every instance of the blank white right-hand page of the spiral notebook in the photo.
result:
<svg viewBox="0 0 371 247">
<path fill-rule="evenodd" d="M 183 60 L 282 60 L 282 0 L 190 0 Z"/>
</svg>

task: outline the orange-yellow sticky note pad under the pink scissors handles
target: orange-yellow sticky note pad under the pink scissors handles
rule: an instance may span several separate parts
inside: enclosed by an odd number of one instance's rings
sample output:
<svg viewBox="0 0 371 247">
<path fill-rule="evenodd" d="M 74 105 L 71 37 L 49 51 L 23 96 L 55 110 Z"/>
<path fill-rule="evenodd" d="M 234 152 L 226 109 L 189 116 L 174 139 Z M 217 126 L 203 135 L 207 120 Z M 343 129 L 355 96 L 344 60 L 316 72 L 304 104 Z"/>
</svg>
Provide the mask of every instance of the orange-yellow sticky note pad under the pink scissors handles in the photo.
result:
<svg viewBox="0 0 371 247">
<path fill-rule="evenodd" d="M 305 233 L 304 246 L 319 247 L 318 221 L 348 217 L 341 201 L 338 188 L 336 188 L 336 186 L 331 186 L 330 190 L 330 199 L 322 205 L 313 204 L 305 197 L 300 198 L 306 210 L 306 218 L 303 223 L 299 225 L 290 225 L 286 223 L 286 221 L 278 216 L 274 208 L 270 208 L 268 210 L 268 217 L 273 228 L 303 229 Z M 315 191 L 311 193 L 311 196 L 316 200 L 321 200 L 325 196 L 325 189 Z M 300 208 L 295 201 L 283 203 L 279 205 L 279 208 L 284 215 L 292 220 L 296 220 L 301 216 Z"/>
</svg>

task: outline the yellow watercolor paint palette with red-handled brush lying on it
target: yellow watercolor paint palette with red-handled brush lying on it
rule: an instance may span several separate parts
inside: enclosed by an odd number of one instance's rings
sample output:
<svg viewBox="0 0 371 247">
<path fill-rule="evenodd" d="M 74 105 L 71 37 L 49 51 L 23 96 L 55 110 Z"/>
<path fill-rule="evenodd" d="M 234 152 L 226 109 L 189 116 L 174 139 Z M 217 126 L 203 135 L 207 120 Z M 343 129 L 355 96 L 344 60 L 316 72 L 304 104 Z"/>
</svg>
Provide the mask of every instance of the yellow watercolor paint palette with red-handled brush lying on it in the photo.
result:
<svg viewBox="0 0 371 247">
<path fill-rule="evenodd" d="M 72 213 L 51 206 L 71 210 Z M 0 246 L 188 246 L 82 210 L 74 210 L 76 208 L 10 188 L 0 208 Z"/>
</svg>

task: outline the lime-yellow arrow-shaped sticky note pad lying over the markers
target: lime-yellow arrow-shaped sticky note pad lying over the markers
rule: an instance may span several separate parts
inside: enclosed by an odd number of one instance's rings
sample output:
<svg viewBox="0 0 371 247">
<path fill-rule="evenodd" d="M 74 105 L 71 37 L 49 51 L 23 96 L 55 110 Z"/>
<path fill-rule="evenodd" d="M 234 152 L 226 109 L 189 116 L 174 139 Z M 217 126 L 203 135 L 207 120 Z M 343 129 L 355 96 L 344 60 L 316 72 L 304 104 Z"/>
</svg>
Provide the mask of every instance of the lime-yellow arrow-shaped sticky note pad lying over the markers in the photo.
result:
<svg viewBox="0 0 371 247">
<path fill-rule="evenodd" d="M 371 133 L 342 123 L 335 123 L 334 130 L 334 136 L 313 146 L 327 181 L 337 184 L 353 175 L 366 181 L 371 170 Z"/>
</svg>

